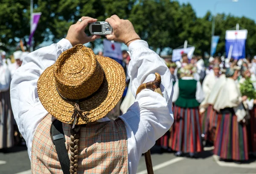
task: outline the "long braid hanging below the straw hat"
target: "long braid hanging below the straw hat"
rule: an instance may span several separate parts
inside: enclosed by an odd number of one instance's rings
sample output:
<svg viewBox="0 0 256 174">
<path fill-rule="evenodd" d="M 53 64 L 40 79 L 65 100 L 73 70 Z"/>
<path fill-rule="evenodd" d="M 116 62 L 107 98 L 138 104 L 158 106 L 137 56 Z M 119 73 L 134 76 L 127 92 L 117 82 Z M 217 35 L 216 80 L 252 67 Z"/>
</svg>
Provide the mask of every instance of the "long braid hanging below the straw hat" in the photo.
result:
<svg viewBox="0 0 256 174">
<path fill-rule="evenodd" d="M 80 126 L 76 125 L 70 135 L 70 174 L 78 173 L 79 137 Z"/>
</svg>

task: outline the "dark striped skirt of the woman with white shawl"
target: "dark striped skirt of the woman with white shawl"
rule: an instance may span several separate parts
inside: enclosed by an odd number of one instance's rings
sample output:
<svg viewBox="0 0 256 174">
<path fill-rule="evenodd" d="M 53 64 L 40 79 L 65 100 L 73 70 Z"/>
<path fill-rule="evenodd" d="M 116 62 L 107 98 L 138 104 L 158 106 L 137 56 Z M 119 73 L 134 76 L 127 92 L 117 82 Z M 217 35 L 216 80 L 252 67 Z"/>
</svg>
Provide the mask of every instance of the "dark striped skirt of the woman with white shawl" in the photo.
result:
<svg viewBox="0 0 256 174">
<path fill-rule="evenodd" d="M 214 154 L 223 160 L 248 160 L 247 131 L 232 113 L 219 114 Z"/>
</svg>

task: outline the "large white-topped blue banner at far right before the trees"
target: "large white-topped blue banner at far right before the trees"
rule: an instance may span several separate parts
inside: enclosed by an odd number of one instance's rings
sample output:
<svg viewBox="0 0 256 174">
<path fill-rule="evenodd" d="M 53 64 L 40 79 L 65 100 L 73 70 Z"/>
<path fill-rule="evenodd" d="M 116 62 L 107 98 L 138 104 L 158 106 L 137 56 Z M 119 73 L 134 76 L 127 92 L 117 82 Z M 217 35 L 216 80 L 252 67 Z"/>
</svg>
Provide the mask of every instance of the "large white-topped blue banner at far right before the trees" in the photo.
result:
<svg viewBox="0 0 256 174">
<path fill-rule="evenodd" d="M 228 30 L 226 31 L 226 54 L 229 53 L 232 45 L 231 57 L 239 60 L 245 58 L 245 42 L 247 30 Z"/>
</svg>

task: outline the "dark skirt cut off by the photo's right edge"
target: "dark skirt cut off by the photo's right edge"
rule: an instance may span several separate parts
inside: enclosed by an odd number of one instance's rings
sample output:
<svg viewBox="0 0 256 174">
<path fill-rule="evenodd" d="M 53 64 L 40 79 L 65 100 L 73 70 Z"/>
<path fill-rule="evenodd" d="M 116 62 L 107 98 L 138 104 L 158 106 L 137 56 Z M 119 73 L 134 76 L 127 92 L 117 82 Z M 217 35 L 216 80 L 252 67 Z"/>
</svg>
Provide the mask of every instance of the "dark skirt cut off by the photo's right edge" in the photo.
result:
<svg viewBox="0 0 256 174">
<path fill-rule="evenodd" d="M 256 152 L 256 105 L 250 111 L 250 120 L 247 126 L 249 152 Z"/>
</svg>

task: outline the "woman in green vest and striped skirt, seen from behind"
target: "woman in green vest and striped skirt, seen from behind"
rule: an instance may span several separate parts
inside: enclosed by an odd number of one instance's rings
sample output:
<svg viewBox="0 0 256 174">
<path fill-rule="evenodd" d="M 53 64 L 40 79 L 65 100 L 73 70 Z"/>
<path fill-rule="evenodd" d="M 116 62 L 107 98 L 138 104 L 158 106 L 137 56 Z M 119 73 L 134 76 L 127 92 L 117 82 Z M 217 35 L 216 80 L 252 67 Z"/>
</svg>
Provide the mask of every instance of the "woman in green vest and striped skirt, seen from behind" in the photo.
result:
<svg viewBox="0 0 256 174">
<path fill-rule="evenodd" d="M 195 72 L 196 68 L 190 64 L 180 68 L 181 79 L 174 85 L 175 122 L 169 144 L 177 151 L 176 156 L 189 153 L 190 157 L 196 157 L 196 153 L 203 150 L 198 107 L 204 93 L 201 83 L 193 79 Z"/>
</svg>

